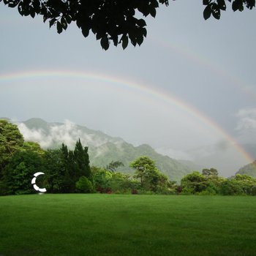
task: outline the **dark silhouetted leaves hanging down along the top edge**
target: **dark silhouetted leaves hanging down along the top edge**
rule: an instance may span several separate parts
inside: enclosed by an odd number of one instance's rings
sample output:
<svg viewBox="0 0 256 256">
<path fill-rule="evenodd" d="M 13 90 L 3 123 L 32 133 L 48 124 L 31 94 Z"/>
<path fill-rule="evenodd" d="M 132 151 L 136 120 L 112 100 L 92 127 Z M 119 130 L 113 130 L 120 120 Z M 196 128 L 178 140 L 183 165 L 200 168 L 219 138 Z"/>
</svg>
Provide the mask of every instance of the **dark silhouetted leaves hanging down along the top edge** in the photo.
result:
<svg viewBox="0 0 256 256">
<path fill-rule="evenodd" d="M 2 1 L 2 0 L 0 0 Z M 244 7 L 252 9 L 255 0 L 203 0 L 206 5 L 203 17 L 207 20 L 211 15 L 219 19 L 220 12 L 226 10 L 226 2 L 232 4 L 234 11 L 243 11 Z M 155 17 L 159 4 L 169 5 L 168 0 L 3 0 L 8 7 L 18 7 L 20 15 L 42 15 L 43 21 L 49 21 L 50 27 L 55 25 L 58 33 L 67 29 L 74 21 L 81 29 L 83 36 L 88 37 L 91 31 L 96 39 L 100 39 L 103 49 L 108 50 L 110 42 L 121 44 L 127 48 L 141 45 L 146 37 L 146 21 L 135 18 L 138 13 L 144 17 Z"/>
</svg>

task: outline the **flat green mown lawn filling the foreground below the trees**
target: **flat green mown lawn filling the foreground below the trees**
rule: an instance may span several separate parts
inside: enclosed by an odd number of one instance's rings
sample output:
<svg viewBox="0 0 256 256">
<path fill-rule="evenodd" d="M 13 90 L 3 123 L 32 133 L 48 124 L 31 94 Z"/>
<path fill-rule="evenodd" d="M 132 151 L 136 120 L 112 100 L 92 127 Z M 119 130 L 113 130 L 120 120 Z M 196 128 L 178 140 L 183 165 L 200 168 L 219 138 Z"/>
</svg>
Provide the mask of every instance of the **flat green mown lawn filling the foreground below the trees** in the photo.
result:
<svg viewBox="0 0 256 256">
<path fill-rule="evenodd" d="M 0 197 L 0 255 L 256 255 L 256 197 Z"/>
</svg>

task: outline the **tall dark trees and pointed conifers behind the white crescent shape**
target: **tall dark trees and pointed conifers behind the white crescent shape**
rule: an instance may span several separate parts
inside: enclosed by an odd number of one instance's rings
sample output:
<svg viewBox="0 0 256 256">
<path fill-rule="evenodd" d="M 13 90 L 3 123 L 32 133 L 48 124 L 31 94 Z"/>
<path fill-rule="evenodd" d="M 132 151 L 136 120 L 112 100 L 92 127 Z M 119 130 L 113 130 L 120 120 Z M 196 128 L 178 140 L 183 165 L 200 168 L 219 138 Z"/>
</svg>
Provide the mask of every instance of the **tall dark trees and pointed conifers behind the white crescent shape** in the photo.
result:
<svg viewBox="0 0 256 256">
<path fill-rule="evenodd" d="M 1 195 L 34 192 L 31 178 L 37 172 L 45 173 L 41 183 L 48 192 L 76 192 L 81 177 L 84 177 L 83 181 L 88 179 L 90 186 L 88 147 L 83 148 L 80 140 L 74 151 L 64 144 L 59 149 L 43 151 L 37 143 L 24 142 L 15 124 L 0 120 L 0 150 Z M 81 189 L 81 184 L 78 187 Z"/>
</svg>

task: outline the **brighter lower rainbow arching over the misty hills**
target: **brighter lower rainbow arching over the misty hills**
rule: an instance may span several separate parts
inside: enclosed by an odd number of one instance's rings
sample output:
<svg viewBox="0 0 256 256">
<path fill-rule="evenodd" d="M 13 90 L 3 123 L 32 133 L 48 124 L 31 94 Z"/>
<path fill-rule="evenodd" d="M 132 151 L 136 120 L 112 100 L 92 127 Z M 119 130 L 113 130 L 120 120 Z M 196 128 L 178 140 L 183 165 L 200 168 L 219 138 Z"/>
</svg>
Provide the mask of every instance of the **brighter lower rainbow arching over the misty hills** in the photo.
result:
<svg viewBox="0 0 256 256">
<path fill-rule="evenodd" d="M 246 159 L 248 162 L 253 162 L 254 159 L 250 156 L 243 147 L 241 147 L 238 142 L 229 135 L 222 127 L 219 126 L 216 122 L 211 120 L 205 116 L 200 110 L 195 108 L 192 105 L 189 105 L 187 102 L 183 102 L 178 97 L 174 97 L 170 92 L 163 91 L 161 89 L 155 89 L 154 86 L 150 85 L 143 85 L 139 83 L 135 83 L 133 81 L 118 78 L 118 77 L 111 77 L 105 74 L 98 74 L 93 72 L 79 72 L 79 71 L 70 71 L 70 70 L 56 70 L 56 71 L 28 71 L 28 72 L 15 72 L 10 74 L 2 74 L 0 75 L 0 88 L 1 86 L 7 86 L 8 83 L 15 81 L 15 80 L 33 80 L 37 78 L 67 78 L 67 79 L 81 79 L 81 80 L 95 80 L 103 83 L 108 83 L 108 86 L 112 86 L 114 89 L 120 89 L 123 91 L 133 91 L 135 94 L 140 94 L 142 97 L 147 97 L 155 102 L 161 102 L 165 105 L 171 105 L 177 107 L 179 110 L 187 113 L 187 115 L 195 118 L 198 123 L 206 125 L 217 132 L 219 135 L 222 135 L 237 151 L 241 153 L 241 155 Z"/>
</svg>

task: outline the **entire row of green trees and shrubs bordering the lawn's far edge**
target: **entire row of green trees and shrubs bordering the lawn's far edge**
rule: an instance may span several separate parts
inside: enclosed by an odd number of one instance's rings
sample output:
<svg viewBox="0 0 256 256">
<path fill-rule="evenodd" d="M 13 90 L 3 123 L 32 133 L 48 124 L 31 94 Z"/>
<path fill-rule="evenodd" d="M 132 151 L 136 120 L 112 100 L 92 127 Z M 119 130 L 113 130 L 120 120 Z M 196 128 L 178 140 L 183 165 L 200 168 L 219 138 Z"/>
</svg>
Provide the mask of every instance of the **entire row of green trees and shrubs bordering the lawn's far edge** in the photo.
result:
<svg viewBox="0 0 256 256">
<path fill-rule="evenodd" d="M 43 150 L 38 143 L 25 142 L 15 124 L 0 120 L 0 195 L 35 193 L 31 178 L 37 172 L 45 173 L 37 178 L 37 186 L 50 193 L 256 195 L 256 178 L 245 174 L 223 178 L 214 168 L 203 169 L 177 184 L 147 156 L 130 163 L 133 175 L 117 171 L 121 161 L 90 166 L 88 149 L 78 139 L 74 150 L 64 143 L 61 148 Z"/>
</svg>

